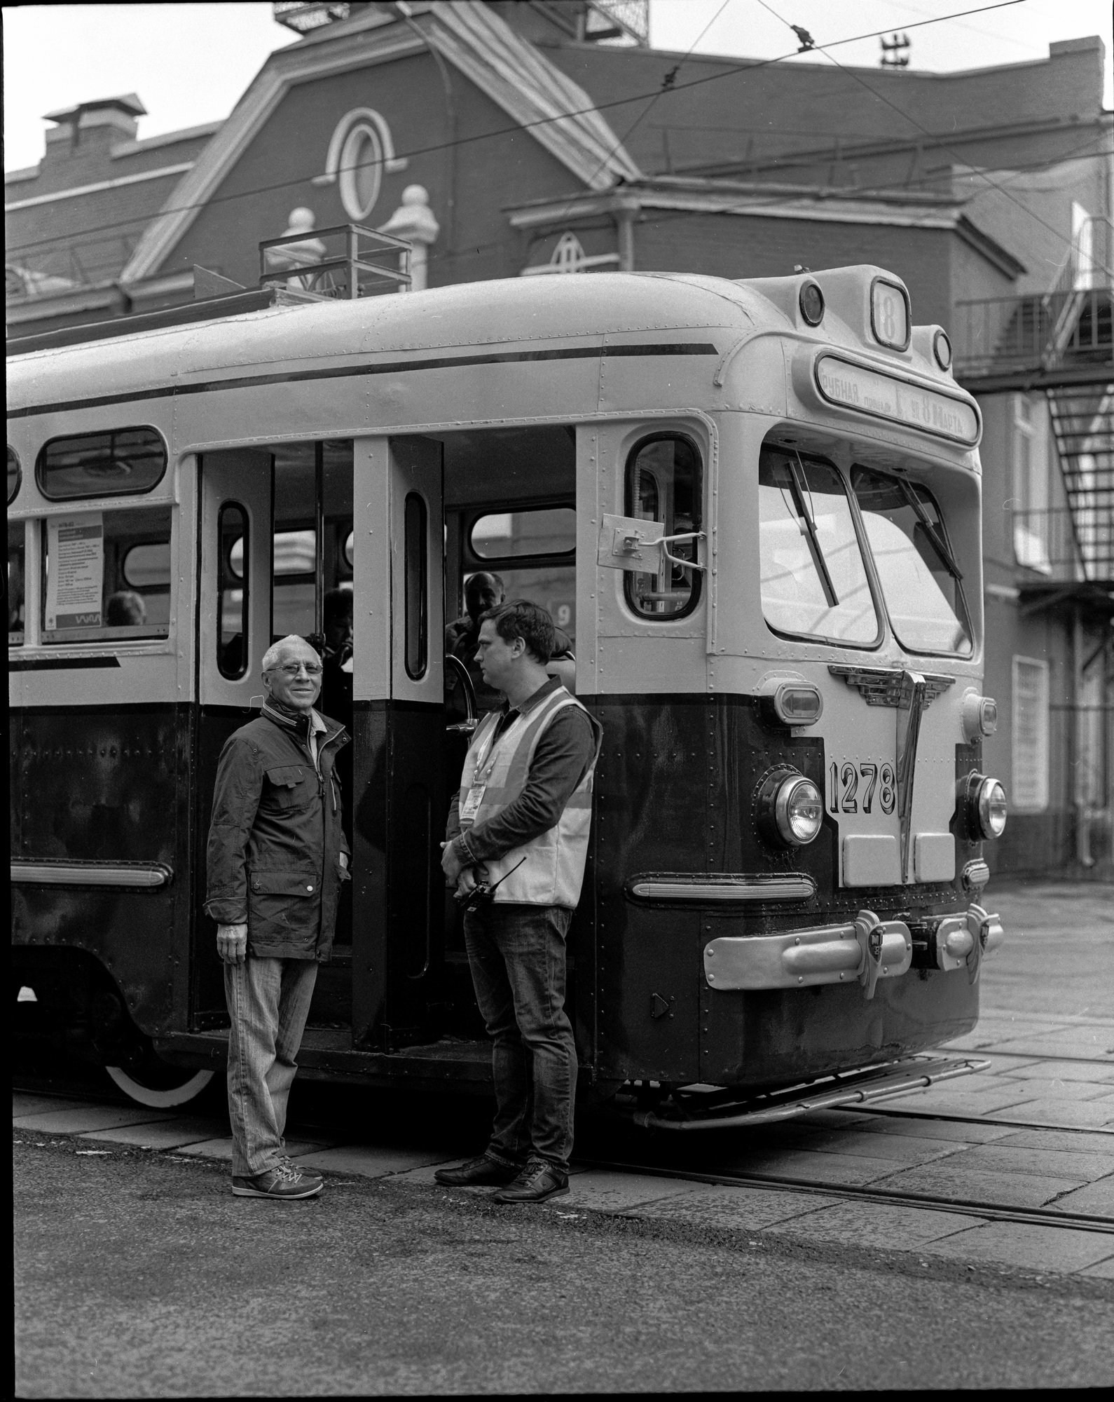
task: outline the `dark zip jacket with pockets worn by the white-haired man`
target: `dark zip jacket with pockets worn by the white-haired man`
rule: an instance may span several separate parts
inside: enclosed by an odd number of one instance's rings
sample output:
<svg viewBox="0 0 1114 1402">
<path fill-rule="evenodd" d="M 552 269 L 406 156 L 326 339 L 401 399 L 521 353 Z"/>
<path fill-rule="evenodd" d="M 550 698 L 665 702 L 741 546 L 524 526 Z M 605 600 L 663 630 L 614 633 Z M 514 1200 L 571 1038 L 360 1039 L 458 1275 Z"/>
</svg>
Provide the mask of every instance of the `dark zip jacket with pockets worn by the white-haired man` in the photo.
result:
<svg viewBox="0 0 1114 1402">
<path fill-rule="evenodd" d="M 293 721 L 270 707 L 220 753 L 205 908 L 219 924 L 247 921 L 256 956 L 324 960 L 332 949 L 336 900 L 350 876 L 333 765 L 349 736 L 321 719 L 317 765 L 308 716 Z"/>
</svg>

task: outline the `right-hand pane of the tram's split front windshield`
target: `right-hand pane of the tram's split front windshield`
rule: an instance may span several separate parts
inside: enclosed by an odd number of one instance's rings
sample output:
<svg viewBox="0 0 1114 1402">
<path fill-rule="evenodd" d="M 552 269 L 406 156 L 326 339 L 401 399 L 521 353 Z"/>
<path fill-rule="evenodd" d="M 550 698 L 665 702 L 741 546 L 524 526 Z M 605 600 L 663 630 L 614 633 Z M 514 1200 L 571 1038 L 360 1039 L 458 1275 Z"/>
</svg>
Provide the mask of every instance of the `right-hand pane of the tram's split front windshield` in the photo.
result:
<svg viewBox="0 0 1114 1402">
<path fill-rule="evenodd" d="M 963 575 L 928 488 L 866 467 L 852 471 L 851 485 L 897 641 L 909 652 L 967 656 Z"/>
</svg>

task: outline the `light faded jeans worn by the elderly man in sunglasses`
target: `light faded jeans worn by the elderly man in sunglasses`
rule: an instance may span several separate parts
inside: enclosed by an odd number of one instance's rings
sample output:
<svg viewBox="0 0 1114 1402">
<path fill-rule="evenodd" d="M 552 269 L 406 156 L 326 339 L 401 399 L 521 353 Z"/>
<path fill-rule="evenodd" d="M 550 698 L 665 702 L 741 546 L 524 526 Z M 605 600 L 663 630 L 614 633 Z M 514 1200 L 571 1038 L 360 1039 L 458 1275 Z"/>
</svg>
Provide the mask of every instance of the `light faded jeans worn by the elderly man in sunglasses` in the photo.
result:
<svg viewBox="0 0 1114 1402">
<path fill-rule="evenodd" d="M 224 965 L 235 1178 L 254 1178 L 279 1166 L 286 1147 L 286 1102 L 298 1068 L 294 1057 L 315 983 L 315 959 L 248 955 L 242 965 Z"/>
</svg>

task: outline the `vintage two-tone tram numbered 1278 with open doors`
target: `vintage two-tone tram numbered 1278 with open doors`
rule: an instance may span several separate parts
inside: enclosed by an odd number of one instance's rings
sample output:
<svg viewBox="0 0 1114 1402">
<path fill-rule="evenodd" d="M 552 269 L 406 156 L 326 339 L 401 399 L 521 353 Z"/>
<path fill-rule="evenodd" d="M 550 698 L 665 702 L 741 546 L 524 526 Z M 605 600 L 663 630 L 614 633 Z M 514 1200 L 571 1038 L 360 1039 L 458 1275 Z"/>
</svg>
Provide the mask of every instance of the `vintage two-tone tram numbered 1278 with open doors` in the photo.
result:
<svg viewBox="0 0 1114 1402">
<path fill-rule="evenodd" d="M 216 760 L 266 646 L 342 589 L 355 879 L 303 1074 L 488 1087 L 437 847 L 475 722 L 444 625 L 478 569 L 551 608 L 604 728 L 584 1095 L 723 1123 L 816 1081 L 883 1094 L 971 1029 L 1005 823 L 981 422 L 901 280 L 272 303 L 10 359 L 17 1030 L 151 1105 L 221 1066 Z"/>
</svg>

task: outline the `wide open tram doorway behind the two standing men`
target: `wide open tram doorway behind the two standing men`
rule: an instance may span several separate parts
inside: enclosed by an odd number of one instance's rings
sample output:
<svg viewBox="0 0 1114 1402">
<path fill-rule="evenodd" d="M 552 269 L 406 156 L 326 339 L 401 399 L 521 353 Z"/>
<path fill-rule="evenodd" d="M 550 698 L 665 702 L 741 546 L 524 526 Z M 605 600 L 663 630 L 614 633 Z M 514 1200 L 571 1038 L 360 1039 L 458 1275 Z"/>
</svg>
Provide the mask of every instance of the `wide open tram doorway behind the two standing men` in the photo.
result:
<svg viewBox="0 0 1114 1402">
<path fill-rule="evenodd" d="M 576 432 L 282 443 L 206 454 L 200 481 L 193 1025 L 227 1023 L 214 930 L 200 914 L 216 763 L 258 714 L 263 652 L 293 632 L 324 649 L 319 709 L 352 736 L 339 773 L 353 880 L 307 1036 L 387 1053 L 479 1042 L 440 841 L 471 728 L 502 697 L 476 688 L 467 645 L 447 656 L 447 634 L 483 571 L 504 597 L 549 608 L 575 648 Z M 562 680 L 575 686 L 572 663 Z"/>
</svg>

